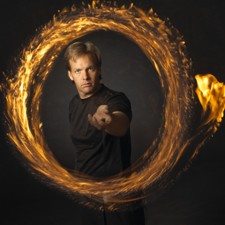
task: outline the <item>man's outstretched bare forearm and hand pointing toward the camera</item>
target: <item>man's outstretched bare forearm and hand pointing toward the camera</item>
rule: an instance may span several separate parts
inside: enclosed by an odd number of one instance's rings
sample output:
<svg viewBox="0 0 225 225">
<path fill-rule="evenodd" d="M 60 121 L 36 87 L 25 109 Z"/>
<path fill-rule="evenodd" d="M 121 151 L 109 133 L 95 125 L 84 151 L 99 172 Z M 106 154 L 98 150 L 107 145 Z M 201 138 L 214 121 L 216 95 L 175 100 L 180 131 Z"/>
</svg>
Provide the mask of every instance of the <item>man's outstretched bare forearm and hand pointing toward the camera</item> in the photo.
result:
<svg viewBox="0 0 225 225">
<path fill-rule="evenodd" d="M 100 105 L 93 115 L 88 115 L 88 120 L 96 129 L 104 129 L 113 136 L 125 135 L 130 126 L 130 121 L 125 113 L 110 112 L 107 105 Z"/>
</svg>

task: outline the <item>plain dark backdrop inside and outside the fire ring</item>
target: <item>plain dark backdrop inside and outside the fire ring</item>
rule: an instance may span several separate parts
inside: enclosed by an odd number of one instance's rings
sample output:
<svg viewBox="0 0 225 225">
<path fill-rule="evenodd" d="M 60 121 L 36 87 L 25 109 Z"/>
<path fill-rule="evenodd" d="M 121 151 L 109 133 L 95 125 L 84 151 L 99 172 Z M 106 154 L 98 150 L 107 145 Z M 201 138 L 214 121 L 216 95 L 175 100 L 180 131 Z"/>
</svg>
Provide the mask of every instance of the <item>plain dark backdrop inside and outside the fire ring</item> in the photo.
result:
<svg viewBox="0 0 225 225">
<path fill-rule="evenodd" d="M 19 50 L 26 44 L 26 41 L 35 35 L 35 30 L 43 26 L 52 19 L 53 14 L 58 9 L 70 6 L 74 1 L 1 1 L 1 50 L 0 50 L 0 71 L 6 71 L 13 66 L 13 57 L 16 57 Z M 79 2 L 79 1 L 75 1 Z M 120 1 L 122 2 L 122 1 Z M 131 2 L 131 1 L 130 1 Z M 180 31 L 186 41 L 189 56 L 193 60 L 193 74 L 211 73 L 219 81 L 225 81 L 225 16 L 222 1 L 213 0 L 157 0 L 157 1 L 133 1 L 136 6 L 148 10 L 150 7 L 158 13 L 160 18 L 169 18 L 171 23 Z M 126 1 L 128 4 L 128 1 Z M 135 160 L 145 147 L 148 146 L 150 139 L 154 138 L 152 127 L 157 130 L 160 121 L 161 97 L 158 90 L 159 82 L 154 76 L 154 68 L 147 62 L 144 55 L 137 48 L 135 43 L 130 42 L 119 34 L 100 32 L 93 33 L 83 40 L 91 39 L 100 45 L 103 50 L 103 81 L 109 86 L 124 90 L 134 103 L 142 99 L 146 93 L 149 98 L 134 106 L 133 135 Z M 105 51 L 107 47 L 115 44 L 118 48 L 110 48 L 110 52 Z M 124 47 L 125 46 L 125 47 Z M 126 51 L 123 50 L 125 48 Z M 131 55 L 132 54 L 132 55 Z M 118 58 L 118 61 L 116 59 Z M 132 56 L 132 57 L 131 57 Z M 110 61 L 110 58 L 113 60 Z M 128 58 L 127 58 L 128 57 Z M 132 65 L 127 64 L 129 57 L 132 58 Z M 121 60 L 124 60 L 120 62 Z M 122 63 L 126 63 L 124 71 L 116 71 L 121 74 L 133 73 L 135 76 L 122 77 L 121 82 L 114 79 L 111 68 L 115 65 L 123 68 Z M 104 65 L 104 61 L 103 61 Z M 57 72 L 56 72 L 57 71 Z M 153 76 L 147 76 L 151 71 Z M 42 118 L 49 121 L 45 132 L 49 145 L 53 147 L 56 156 L 65 166 L 73 163 L 73 152 L 68 142 L 54 146 L 55 139 L 64 137 L 50 135 L 57 129 L 57 116 L 60 115 L 55 107 L 57 104 L 65 104 L 63 116 L 66 117 L 66 105 L 70 95 L 74 94 L 74 89 L 66 78 L 65 69 L 60 60 L 49 75 L 44 88 L 44 99 L 42 102 Z M 54 76 L 54 74 L 56 74 Z M 111 77 L 111 78 L 110 78 Z M 127 81 L 127 79 L 129 79 Z M 1 81 L 3 79 L 1 78 Z M 65 80 L 65 82 L 64 82 Z M 61 82 L 63 81 L 63 82 Z M 129 83 L 126 83 L 126 81 Z M 63 86 L 61 85 L 63 83 Z M 52 85 L 54 84 L 54 85 Z M 58 86 L 57 86 L 58 85 Z M 121 86 L 120 86 L 121 85 Z M 132 86 L 132 88 L 130 87 Z M 151 85 L 151 86 L 149 86 Z M 70 95 L 63 95 L 65 87 Z M 136 89 L 135 89 L 136 87 Z M 151 87 L 151 88 L 149 88 Z M 61 89 L 60 89 L 61 88 Z M 141 89 L 140 89 L 141 88 Z M 149 90 L 148 92 L 148 89 Z M 142 90 L 142 92 L 138 91 Z M 48 94 L 49 93 L 49 94 Z M 67 93 L 67 92 L 66 92 Z M 63 95 L 63 97 L 62 97 Z M 51 97 L 57 96 L 53 101 Z M 61 96 L 61 97 L 60 97 Z M 1 103 L 3 103 L 1 95 Z M 50 101 L 52 100 L 52 101 Z M 148 107 L 154 105 L 151 112 Z M 147 108 L 146 108 L 147 107 Z M 51 109 L 54 110 L 52 116 Z M 146 109 L 146 110 L 145 110 Z M 26 167 L 23 166 L 14 155 L 14 149 L 10 146 L 5 137 L 5 127 L 2 122 L 2 112 L 4 104 L 1 104 L 1 126 L 0 126 L 0 224 L 3 225 L 67 225 L 76 224 L 76 208 L 78 207 L 66 194 L 55 188 L 41 183 L 32 176 Z M 146 113 L 147 112 L 147 113 Z M 148 113 L 149 112 L 149 113 Z M 153 118 L 157 117 L 154 121 Z M 139 118 L 144 118 L 146 123 L 138 123 Z M 61 125 L 61 124 L 60 124 Z M 55 127 L 56 126 L 56 127 Z M 66 129 L 66 125 L 64 126 Z M 62 127 L 62 129 L 64 129 Z M 140 129 L 140 131 L 138 130 Z M 140 136 L 137 136 L 138 133 Z M 149 136 L 146 136 L 146 132 Z M 150 133 L 148 133 L 150 132 Z M 152 133 L 151 133 L 152 132 Z M 66 133 L 65 133 L 66 134 Z M 66 135 L 65 135 L 66 136 Z M 141 147 L 138 148 L 138 140 L 141 138 Z M 225 175 L 225 123 L 214 137 L 201 149 L 197 159 L 194 160 L 191 168 L 177 180 L 174 186 L 166 190 L 154 202 L 146 206 L 147 225 L 222 225 L 224 224 L 224 175 Z M 62 152 L 66 152 L 66 157 L 62 157 Z M 7 215 L 8 214 L 8 215 Z"/>
</svg>

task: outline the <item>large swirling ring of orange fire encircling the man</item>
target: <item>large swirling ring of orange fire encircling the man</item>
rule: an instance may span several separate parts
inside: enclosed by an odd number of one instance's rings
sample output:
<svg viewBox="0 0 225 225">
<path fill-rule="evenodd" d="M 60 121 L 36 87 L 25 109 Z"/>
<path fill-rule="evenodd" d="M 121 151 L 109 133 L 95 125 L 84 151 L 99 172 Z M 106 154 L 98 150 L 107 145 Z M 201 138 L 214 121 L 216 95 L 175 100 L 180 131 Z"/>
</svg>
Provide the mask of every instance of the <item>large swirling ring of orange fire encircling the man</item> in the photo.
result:
<svg viewBox="0 0 225 225">
<path fill-rule="evenodd" d="M 61 167 L 45 143 L 39 118 L 42 87 L 54 60 L 71 41 L 99 29 L 119 32 L 134 41 L 155 66 L 165 95 L 160 138 L 129 171 L 104 180 L 72 174 Z M 94 200 L 90 205 L 101 207 L 104 202 L 108 209 L 119 209 L 165 186 L 187 150 L 193 101 L 189 69 L 179 33 L 152 10 L 145 13 L 132 5 L 112 8 L 95 4 L 79 11 L 65 9 L 23 50 L 16 76 L 8 81 L 8 136 L 30 167 L 57 187 Z"/>
</svg>

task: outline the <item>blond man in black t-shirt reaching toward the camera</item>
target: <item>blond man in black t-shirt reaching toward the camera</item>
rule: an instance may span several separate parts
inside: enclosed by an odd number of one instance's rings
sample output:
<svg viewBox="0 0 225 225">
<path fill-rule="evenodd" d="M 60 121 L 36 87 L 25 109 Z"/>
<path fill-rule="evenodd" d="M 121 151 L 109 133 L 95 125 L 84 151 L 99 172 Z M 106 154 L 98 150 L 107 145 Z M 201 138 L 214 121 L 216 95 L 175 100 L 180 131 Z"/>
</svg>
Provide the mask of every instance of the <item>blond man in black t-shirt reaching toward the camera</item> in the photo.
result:
<svg viewBox="0 0 225 225">
<path fill-rule="evenodd" d="M 115 175 L 130 166 L 130 101 L 122 92 L 101 83 L 101 55 L 93 43 L 72 43 L 66 49 L 65 59 L 68 76 L 78 92 L 69 105 L 75 169 L 95 177 Z M 138 213 L 131 211 L 85 210 L 81 224 L 137 224 L 134 217 Z"/>
</svg>

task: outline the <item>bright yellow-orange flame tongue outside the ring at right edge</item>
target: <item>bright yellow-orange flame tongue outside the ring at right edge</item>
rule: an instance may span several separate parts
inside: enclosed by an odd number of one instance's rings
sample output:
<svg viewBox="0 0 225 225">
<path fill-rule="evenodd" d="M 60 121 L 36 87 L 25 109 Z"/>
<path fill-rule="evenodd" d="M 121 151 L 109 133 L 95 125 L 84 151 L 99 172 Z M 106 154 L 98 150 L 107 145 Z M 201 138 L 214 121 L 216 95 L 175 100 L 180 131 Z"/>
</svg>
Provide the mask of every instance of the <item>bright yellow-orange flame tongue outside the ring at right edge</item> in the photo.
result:
<svg viewBox="0 0 225 225">
<path fill-rule="evenodd" d="M 225 109 L 225 85 L 211 74 L 197 74 L 195 79 L 198 85 L 196 93 L 205 117 L 204 124 L 213 120 L 221 122 Z"/>
</svg>

